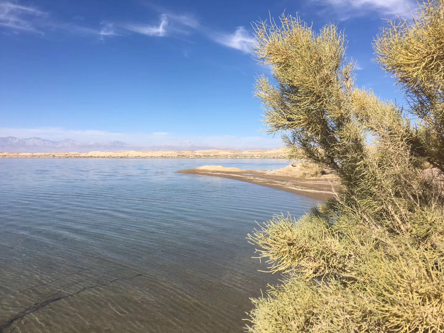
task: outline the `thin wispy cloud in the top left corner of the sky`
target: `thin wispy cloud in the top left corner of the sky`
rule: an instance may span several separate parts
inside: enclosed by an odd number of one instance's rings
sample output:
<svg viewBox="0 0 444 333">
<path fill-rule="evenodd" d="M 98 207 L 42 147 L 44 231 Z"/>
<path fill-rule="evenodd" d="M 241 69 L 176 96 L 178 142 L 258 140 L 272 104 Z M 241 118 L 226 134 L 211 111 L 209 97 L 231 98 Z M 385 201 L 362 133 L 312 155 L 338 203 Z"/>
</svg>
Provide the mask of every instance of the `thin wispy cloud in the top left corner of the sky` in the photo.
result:
<svg viewBox="0 0 444 333">
<path fill-rule="evenodd" d="M 43 34 L 36 27 L 36 20 L 46 13 L 34 7 L 22 6 L 12 2 L 0 2 L 0 25 L 12 30 Z"/>
</svg>

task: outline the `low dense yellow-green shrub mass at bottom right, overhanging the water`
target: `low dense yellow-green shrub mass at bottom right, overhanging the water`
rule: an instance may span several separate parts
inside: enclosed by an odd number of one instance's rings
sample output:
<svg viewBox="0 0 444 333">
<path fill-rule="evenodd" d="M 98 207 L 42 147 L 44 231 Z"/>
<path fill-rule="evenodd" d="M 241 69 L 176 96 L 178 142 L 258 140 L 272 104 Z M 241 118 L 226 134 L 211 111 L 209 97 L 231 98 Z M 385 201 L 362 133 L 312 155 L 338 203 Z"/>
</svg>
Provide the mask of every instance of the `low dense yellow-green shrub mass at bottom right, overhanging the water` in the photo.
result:
<svg viewBox="0 0 444 333">
<path fill-rule="evenodd" d="M 319 212 L 267 222 L 250 240 L 271 270 L 287 274 L 253 300 L 249 331 L 442 332 L 444 211 L 431 214 L 427 243 L 351 214 L 334 223 Z"/>
</svg>

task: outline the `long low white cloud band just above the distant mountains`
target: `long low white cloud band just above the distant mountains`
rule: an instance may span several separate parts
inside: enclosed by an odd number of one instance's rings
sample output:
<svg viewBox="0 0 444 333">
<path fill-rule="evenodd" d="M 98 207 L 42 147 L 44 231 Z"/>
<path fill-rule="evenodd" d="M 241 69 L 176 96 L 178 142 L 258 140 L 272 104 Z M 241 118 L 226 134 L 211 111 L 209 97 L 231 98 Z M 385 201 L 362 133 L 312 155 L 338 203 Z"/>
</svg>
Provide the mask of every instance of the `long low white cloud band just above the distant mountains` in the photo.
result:
<svg viewBox="0 0 444 333">
<path fill-rule="evenodd" d="M 256 136 L 238 136 L 238 135 L 220 135 L 220 136 L 204 136 L 204 135 L 177 135 L 167 132 L 154 133 L 124 133 L 124 132 L 108 132 L 98 130 L 68 130 L 61 127 L 42 127 L 42 128 L 0 128 L 0 137 L 13 136 L 16 138 L 32 138 L 38 137 L 53 141 L 63 139 L 73 139 L 81 142 L 111 142 L 123 141 L 131 145 L 153 146 L 153 145 L 170 145 L 170 146 L 205 146 L 215 148 L 230 149 L 269 149 L 282 146 L 279 137 L 270 135 Z"/>
</svg>

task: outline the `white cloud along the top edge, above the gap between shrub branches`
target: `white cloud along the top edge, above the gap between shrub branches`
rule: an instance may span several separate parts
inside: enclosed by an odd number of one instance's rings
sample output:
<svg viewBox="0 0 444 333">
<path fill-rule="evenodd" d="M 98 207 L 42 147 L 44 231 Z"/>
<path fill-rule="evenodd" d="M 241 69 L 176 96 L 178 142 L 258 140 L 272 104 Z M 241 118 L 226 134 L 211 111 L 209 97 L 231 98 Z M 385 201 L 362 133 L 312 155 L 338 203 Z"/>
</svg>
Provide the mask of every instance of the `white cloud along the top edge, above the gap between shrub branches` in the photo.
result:
<svg viewBox="0 0 444 333">
<path fill-rule="evenodd" d="M 312 0 L 317 3 L 328 3 L 341 12 L 342 18 L 362 16 L 369 11 L 387 16 L 410 17 L 408 8 L 415 8 L 413 0 Z"/>
</svg>

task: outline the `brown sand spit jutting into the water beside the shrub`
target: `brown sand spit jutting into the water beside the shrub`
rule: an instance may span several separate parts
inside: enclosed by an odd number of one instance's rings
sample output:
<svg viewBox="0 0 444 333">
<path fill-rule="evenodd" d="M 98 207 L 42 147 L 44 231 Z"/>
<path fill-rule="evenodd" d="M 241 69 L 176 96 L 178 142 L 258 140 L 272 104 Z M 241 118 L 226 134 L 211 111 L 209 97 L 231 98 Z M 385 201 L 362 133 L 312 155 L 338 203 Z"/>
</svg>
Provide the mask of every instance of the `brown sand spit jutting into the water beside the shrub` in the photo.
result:
<svg viewBox="0 0 444 333">
<path fill-rule="evenodd" d="M 305 171 L 299 164 L 285 166 L 278 170 L 240 170 L 223 166 L 200 166 L 195 169 L 180 170 L 184 174 L 216 176 L 273 187 L 310 198 L 326 200 L 333 196 L 334 189 L 339 187 L 333 174 L 319 177 L 304 177 Z M 235 170 L 233 170 L 235 169 Z"/>
</svg>

